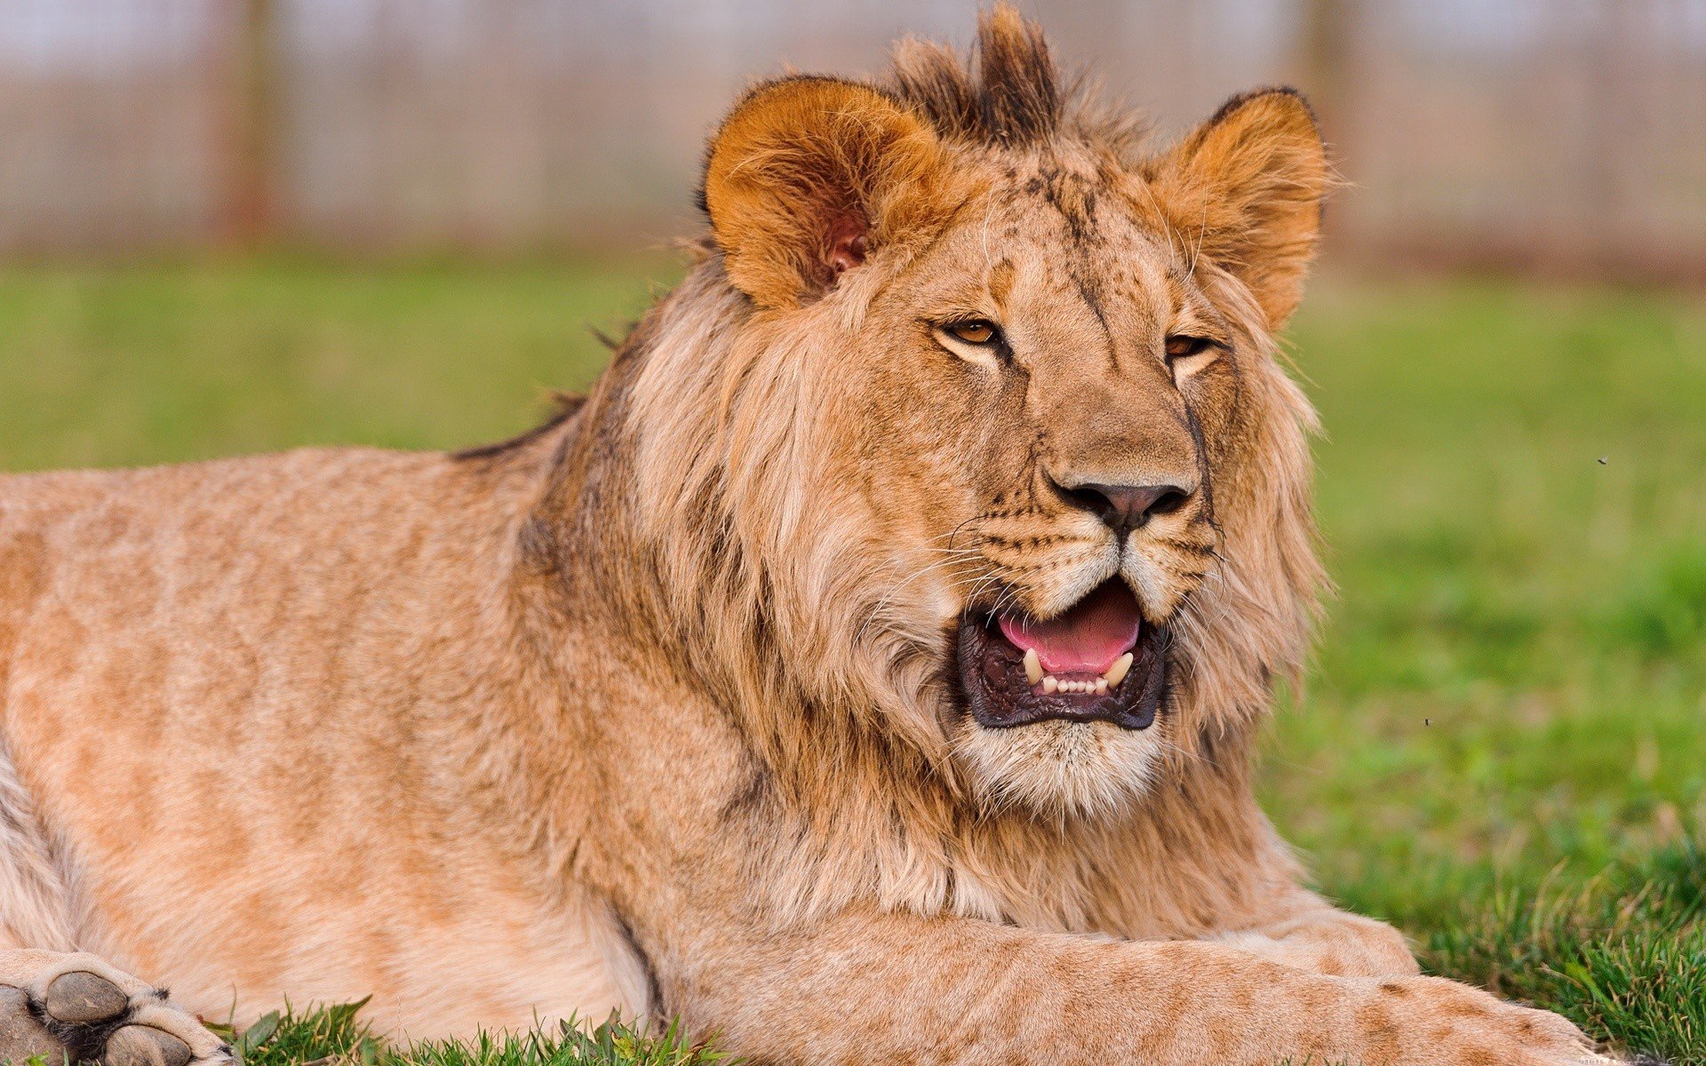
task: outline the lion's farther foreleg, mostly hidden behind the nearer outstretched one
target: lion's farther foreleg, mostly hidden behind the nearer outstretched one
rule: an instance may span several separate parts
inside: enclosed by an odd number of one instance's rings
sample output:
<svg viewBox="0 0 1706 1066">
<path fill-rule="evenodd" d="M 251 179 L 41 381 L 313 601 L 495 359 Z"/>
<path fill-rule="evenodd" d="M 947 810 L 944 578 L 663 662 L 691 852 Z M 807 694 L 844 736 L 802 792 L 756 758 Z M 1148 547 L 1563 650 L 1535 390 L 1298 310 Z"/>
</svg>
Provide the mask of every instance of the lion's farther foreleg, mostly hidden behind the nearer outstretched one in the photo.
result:
<svg viewBox="0 0 1706 1066">
<path fill-rule="evenodd" d="M 1419 970 L 1402 933 L 1312 894 L 1300 894 L 1264 924 L 1218 940 L 1314 974 L 1380 977 Z"/>
</svg>

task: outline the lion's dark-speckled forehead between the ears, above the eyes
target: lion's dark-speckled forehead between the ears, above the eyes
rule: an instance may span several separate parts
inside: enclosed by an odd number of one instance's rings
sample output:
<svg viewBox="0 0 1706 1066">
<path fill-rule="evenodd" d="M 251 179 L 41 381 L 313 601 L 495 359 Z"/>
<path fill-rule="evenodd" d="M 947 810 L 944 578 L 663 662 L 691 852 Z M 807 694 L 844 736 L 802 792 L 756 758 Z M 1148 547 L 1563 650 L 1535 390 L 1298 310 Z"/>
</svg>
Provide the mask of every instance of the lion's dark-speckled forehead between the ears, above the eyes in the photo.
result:
<svg viewBox="0 0 1706 1066">
<path fill-rule="evenodd" d="M 993 157 L 981 169 L 979 194 L 928 256 L 942 297 L 983 290 L 1000 305 L 1157 314 L 1192 300 L 1189 261 L 1140 177 L 1053 155 Z"/>
</svg>

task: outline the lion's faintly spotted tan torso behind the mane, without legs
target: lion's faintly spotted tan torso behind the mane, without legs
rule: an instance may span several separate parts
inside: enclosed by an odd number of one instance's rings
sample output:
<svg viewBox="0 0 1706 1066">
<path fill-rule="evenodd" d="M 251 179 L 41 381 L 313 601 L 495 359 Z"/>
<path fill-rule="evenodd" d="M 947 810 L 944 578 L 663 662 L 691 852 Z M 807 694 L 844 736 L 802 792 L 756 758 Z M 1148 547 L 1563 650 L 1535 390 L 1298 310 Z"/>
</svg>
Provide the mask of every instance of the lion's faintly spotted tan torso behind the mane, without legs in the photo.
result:
<svg viewBox="0 0 1706 1066">
<path fill-rule="evenodd" d="M 638 1006 L 619 928 L 543 890 L 469 773 L 525 701 L 505 556 L 536 488 L 355 450 L 0 481 L 0 754 L 65 889 L 24 912 L 0 861 L 12 938 L 171 974 L 210 1018 Z"/>
</svg>

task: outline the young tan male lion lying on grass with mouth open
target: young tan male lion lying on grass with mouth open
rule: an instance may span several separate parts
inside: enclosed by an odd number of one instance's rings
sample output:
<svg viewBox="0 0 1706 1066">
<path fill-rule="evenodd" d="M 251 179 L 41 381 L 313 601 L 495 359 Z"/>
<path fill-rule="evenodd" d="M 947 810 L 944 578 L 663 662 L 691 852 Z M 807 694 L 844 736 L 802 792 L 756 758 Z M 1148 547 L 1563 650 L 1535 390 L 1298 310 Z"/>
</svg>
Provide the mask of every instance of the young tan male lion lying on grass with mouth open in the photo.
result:
<svg viewBox="0 0 1706 1066">
<path fill-rule="evenodd" d="M 747 92 L 686 280 L 520 438 L 0 481 L 0 1057 L 370 994 L 754 1063 L 1600 1061 L 1252 798 L 1332 182 L 1297 92 L 1150 145 L 1003 7 Z"/>
</svg>

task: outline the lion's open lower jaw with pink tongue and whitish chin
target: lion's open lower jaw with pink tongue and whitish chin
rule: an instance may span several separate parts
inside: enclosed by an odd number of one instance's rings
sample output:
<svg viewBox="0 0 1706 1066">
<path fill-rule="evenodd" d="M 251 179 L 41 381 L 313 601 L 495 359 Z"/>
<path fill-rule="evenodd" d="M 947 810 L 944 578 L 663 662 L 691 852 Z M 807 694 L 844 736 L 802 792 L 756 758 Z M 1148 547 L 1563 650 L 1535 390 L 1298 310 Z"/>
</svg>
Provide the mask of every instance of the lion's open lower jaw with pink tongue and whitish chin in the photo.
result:
<svg viewBox="0 0 1706 1066">
<path fill-rule="evenodd" d="M 1051 619 L 967 614 L 955 638 L 955 759 L 995 807 L 1128 808 L 1165 747 L 1167 643 L 1117 578 Z"/>
</svg>

